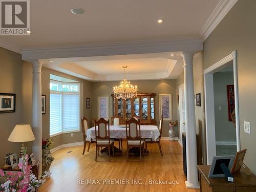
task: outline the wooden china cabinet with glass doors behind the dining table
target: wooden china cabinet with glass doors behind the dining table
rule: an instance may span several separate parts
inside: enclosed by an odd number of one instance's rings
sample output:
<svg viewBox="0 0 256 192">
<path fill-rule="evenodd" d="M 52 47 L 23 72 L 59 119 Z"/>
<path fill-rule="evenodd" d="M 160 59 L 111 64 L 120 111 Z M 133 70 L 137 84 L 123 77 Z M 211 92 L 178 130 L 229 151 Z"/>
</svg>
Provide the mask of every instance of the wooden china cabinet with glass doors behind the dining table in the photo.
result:
<svg viewBox="0 0 256 192">
<path fill-rule="evenodd" d="M 141 124 L 156 125 L 155 93 L 138 93 L 136 98 L 115 99 L 113 97 L 113 115 L 122 117 L 122 123 L 133 116 L 139 116 Z"/>
</svg>

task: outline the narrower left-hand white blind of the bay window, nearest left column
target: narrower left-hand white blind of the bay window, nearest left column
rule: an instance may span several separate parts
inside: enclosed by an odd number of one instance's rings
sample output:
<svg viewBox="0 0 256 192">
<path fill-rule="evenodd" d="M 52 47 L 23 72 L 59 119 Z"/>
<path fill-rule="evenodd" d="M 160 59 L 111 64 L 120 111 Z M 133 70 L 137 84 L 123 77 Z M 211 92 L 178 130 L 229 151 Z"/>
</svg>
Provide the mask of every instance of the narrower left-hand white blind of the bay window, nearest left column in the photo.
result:
<svg viewBox="0 0 256 192">
<path fill-rule="evenodd" d="M 61 93 L 50 94 L 50 135 L 61 130 Z"/>
</svg>

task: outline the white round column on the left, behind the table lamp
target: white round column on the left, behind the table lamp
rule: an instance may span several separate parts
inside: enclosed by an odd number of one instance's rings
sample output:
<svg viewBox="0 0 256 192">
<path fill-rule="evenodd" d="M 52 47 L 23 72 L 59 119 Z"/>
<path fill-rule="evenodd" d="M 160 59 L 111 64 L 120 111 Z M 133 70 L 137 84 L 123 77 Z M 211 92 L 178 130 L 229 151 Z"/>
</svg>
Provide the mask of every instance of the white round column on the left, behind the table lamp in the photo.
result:
<svg viewBox="0 0 256 192">
<path fill-rule="evenodd" d="M 38 177 L 42 170 L 42 101 L 41 101 L 41 68 L 42 63 L 38 60 L 31 61 L 33 65 L 33 105 L 32 105 L 32 127 L 35 140 L 32 150 L 35 158 L 40 160 Z"/>
</svg>

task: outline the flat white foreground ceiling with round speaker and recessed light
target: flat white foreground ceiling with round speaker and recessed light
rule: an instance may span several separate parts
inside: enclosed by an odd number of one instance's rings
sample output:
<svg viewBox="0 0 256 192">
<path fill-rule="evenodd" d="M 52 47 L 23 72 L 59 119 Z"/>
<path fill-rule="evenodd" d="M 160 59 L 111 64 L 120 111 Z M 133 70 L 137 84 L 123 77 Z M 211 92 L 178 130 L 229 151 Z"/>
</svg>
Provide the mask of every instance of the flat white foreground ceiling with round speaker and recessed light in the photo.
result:
<svg viewBox="0 0 256 192">
<path fill-rule="evenodd" d="M 222 0 L 223 1 L 223 0 Z M 29 36 L 1 36 L 21 49 L 200 37 L 220 0 L 33 0 Z M 71 8 L 84 8 L 74 15 Z M 157 20 L 164 19 L 159 25 Z"/>
</svg>

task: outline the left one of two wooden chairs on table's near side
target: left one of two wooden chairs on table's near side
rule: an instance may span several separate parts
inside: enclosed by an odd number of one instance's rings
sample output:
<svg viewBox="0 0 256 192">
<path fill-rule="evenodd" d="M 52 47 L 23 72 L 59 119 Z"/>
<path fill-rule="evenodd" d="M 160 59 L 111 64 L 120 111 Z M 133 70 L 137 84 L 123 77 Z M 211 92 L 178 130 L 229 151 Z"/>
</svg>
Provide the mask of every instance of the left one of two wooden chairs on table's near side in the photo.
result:
<svg viewBox="0 0 256 192">
<path fill-rule="evenodd" d="M 98 126 L 98 130 L 97 130 Z M 108 126 L 108 129 L 107 129 Z M 114 151 L 114 139 L 110 139 L 110 123 L 109 120 L 106 121 L 103 118 L 100 118 L 98 121 L 95 121 L 95 136 L 96 136 L 96 156 L 95 161 L 97 161 L 97 152 L 99 155 L 99 147 L 108 147 L 109 151 L 109 161 L 110 161 L 110 148 L 112 146 L 113 156 L 115 154 Z"/>
</svg>

